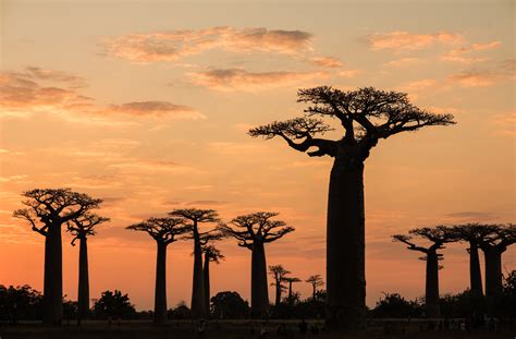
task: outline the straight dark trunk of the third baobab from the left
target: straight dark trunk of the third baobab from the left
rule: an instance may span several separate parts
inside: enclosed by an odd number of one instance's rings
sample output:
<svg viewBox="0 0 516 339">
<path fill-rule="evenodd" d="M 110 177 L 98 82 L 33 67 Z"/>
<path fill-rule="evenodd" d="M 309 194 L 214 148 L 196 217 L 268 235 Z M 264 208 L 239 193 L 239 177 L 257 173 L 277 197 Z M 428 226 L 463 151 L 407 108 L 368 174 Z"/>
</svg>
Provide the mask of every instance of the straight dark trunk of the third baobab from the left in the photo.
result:
<svg viewBox="0 0 516 339">
<path fill-rule="evenodd" d="M 158 241 L 156 261 L 155 325 L 167 324 L 167 244 Z"/>
</svg>

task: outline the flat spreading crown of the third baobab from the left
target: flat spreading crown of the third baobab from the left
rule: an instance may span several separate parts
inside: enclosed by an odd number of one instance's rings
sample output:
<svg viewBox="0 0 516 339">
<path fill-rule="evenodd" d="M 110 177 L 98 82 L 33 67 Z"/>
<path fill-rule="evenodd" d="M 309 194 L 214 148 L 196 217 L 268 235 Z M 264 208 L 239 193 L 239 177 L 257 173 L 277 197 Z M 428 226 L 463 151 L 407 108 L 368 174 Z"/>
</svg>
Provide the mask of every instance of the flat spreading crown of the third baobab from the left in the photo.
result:
<svg viewBox="0 0 516 339">
<path fill-rule="evenodd" d="M 147 232 L 158 243 L 170 244 L 177 239 L 175 237 L 192 231 L 192 227 L 185 225 L 183 218 L 149 218 L 143 222 L 126 227 L 127 230 Z"/>
</svg>

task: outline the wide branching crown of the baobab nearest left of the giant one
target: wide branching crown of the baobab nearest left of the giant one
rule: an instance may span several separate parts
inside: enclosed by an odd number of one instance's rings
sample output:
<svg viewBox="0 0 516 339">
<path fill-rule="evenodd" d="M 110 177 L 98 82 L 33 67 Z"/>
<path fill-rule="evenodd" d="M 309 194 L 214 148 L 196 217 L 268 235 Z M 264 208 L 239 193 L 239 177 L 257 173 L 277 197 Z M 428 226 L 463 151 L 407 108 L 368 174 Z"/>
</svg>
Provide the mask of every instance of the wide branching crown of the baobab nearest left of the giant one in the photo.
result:
<svg viewBox="0 0 516 339">
<path fill-rule="evenodd" d="M 236 239 L 238 246 L 251 249 L 254 242 L 268 243 L 294 231 L 284 221 L 271 220 L 278 213 L 258 211 L 238 216 L 229 225 L 221 223 L 219 230 Z"/>
</svg>

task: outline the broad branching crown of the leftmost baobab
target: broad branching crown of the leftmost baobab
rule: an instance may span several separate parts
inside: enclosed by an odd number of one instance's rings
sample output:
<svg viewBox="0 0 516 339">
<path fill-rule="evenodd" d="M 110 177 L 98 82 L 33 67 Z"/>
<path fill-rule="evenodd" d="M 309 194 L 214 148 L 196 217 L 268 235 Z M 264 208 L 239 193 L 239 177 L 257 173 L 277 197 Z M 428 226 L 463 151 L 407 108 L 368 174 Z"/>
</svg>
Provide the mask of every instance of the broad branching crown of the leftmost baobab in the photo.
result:
<svg viewBox="0 0 516 339">
<path fill-rule="evenodd" d="M 17 209 L 13 217 L 25 219 L 33 231 L 48 237 L 54 227 L 82 217 L 100 207 L 102 199 L 93 198 L 71 189 L 36 189 L 22 194 L 26 208 Z"/>
</svg>

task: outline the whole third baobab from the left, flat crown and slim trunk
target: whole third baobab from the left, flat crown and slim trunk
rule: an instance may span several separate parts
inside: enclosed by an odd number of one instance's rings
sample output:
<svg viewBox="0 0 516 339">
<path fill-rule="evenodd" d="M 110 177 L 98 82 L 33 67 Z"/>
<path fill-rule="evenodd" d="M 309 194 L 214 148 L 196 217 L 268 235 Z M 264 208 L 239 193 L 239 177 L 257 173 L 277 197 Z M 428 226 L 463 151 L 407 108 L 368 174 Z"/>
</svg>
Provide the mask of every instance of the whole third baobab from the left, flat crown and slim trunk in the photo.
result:
<svg viewBox="0 0 516 339">
<path fill-rule="evenodd" d="M 191 231 L 183 218 L 149 218 L 143 222 L 127 226 L 127 230 L 147 232 L 157 245 L 155 325 L 167 324 L 167 246 L 176 241 L 176 237 Z"/>
</svg>

